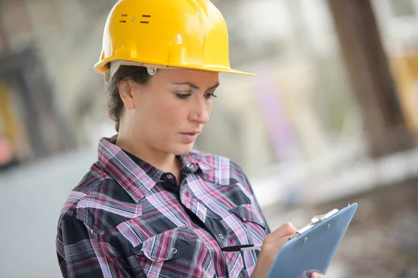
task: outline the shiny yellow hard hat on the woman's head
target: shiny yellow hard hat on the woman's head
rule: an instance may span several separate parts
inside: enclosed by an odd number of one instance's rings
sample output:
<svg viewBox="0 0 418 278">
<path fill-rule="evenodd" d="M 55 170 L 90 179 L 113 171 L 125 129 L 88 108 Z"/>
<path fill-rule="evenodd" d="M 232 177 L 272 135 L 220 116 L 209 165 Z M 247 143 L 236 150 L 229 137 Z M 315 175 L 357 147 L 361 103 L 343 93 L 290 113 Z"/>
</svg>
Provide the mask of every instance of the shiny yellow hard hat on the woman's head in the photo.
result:
<svg viewBox="0 0 418 278">
<path fill-rule="evenodd" d="M 112 61 L 148 67 L 150 74 L 179 67 L 255 75 L 231 69 L 228 28 L 208 0 L 118 1 L 104 26 L 95 72 L 111 74 Z"/>
</svg>

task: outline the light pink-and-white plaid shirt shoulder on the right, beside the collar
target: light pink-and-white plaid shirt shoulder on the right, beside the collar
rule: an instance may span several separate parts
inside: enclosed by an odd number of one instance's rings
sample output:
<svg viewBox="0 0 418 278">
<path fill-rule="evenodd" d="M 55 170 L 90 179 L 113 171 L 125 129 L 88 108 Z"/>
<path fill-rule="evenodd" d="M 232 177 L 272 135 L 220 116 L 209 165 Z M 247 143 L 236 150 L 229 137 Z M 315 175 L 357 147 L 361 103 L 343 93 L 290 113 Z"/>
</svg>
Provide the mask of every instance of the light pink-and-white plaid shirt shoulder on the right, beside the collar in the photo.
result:
<svg viewBox="0 0 418 278">
<path fill-rule="evenodd" d="M 249 181 L 237 163 L 225 156 L 207 154 L 193 150 L 192 156 L 199 163 L 203 172 L 212 178 L 212 182 L 224 185 L 242 183 L 249 186 Z"/>
</svg>

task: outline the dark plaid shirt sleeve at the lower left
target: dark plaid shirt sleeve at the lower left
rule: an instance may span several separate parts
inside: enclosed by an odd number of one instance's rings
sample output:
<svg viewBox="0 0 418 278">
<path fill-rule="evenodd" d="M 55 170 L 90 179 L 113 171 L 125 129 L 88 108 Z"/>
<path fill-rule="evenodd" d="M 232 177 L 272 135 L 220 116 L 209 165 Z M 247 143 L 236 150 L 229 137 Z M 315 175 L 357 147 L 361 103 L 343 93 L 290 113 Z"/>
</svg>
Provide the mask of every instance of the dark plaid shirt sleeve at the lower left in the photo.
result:
<svg viewBox="0 0 418 278">
<path fill-rule="evenodd" d="M 121 253 L 74 218 L 61 220 L 56 253 L 63 277 L 130 277 Z"/>
</svg>

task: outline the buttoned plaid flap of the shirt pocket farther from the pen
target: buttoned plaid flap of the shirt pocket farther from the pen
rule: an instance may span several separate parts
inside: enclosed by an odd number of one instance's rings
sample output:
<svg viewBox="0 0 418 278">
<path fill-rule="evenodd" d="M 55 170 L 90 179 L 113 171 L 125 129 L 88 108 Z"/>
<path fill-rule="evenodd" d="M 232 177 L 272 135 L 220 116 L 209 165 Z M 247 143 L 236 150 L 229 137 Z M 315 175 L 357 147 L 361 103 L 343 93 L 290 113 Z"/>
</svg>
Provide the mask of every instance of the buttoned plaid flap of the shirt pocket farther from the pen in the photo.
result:
<svg viewBox="0 0 418 278">
<path fill-rule="evenodd" d="M 155 262 L 168 261 L 181 256 L 197 238 L 199 236 L 192 228 L 178 227 L 144 240 L 132 253 L 144 255 Z"/>
</svg>

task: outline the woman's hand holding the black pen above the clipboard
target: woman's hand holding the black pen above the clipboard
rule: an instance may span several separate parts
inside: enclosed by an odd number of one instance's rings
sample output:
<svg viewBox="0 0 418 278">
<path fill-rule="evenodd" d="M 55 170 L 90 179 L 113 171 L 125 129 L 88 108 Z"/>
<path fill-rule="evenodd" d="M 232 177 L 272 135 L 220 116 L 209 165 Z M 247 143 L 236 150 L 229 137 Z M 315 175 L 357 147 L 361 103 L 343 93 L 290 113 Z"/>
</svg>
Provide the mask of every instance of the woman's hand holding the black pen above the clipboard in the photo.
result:
<svg viewBox="0 0 418 278">
<path fill-rule="evenodd" d="M 272 265 L 277 253 L 289 240 L 289 237 L 296 234 L 296 231 L 297 229 L 293 226 L 293 224 L 285 223 L 281 225 L 279 229 L 276 229 L 264 238 L 256 266 L 251 274 L 251 278 L 267 277 L 268 270 L 270 270 L 270 266 Z"/>
</svg>

